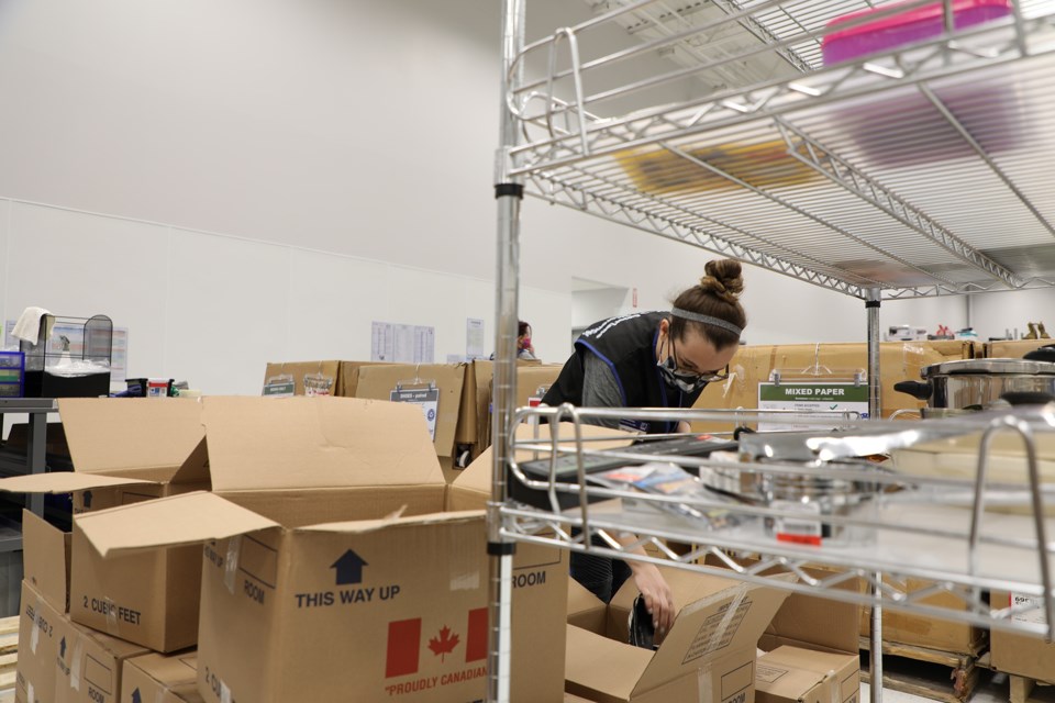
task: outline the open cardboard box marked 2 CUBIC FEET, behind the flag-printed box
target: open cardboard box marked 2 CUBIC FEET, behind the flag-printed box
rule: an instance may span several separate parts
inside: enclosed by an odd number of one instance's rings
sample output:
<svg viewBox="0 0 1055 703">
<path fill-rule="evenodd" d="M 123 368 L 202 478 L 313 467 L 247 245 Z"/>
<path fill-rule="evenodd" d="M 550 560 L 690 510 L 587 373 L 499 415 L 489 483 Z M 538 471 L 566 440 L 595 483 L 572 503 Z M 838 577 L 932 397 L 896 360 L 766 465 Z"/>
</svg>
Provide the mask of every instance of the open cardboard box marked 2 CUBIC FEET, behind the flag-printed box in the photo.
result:
<svg viewBox="0 0 1055 703">
<path fill-rule="evenodd" d="M 201 405 L 187 399 L 60 399 L 74 472 L 0 480 L 12 492 L 75 492 L 77 512 L 209 488 Z M 87 513 L 86 513 L 87 514 Z M 193 547 L 103 565 L 74 523 L 69 538 L 26 516 L 27 578 L 74 622 L 169 651 L 195 644 L 201 555 Z M 69 561 L 69 595 L 66 573 Z"/>
</svg>

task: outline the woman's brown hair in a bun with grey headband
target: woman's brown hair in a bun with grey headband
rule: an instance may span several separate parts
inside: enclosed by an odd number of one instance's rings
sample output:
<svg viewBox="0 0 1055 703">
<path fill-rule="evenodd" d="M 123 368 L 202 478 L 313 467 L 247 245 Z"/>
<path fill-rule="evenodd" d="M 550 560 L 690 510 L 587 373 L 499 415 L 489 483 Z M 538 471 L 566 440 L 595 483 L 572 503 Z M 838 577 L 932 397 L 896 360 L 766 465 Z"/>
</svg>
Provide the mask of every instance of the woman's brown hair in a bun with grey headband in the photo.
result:
<svg viewBox="0 0 1055 703">
<path fill-rule="evenodd" d="M 735 259 L 708 261 L 703 271 L 706 275 L 700 279 L 699 284 L 681 291 L 674 300 L 674 306 L 724 320 L 741 330 L 746 327 L 747 313 L 740 304 L 740 294 L 744 292 L 740 261 Z M 715 349 L 740 343 L 740 335 L 730 330 L 676 315 L 670 317 L 671 338 L 682 339 L 688 327 L 698 330 L 703 338 L 714 345 Z"/>
</svg>

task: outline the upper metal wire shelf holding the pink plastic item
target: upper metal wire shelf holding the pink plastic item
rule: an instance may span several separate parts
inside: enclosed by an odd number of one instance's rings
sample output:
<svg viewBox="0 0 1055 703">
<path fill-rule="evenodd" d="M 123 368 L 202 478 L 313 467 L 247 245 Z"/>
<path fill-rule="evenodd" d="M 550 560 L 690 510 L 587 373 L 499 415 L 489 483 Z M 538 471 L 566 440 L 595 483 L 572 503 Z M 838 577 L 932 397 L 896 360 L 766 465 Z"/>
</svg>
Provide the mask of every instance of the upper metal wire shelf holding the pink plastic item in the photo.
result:
<svg viewBox="0 0 1055 703">
<path fill-rule="evenodd" d="M 823 67 L 802 47 L 866 3 L 725 2 L 721 18 L 580 58 L 596 53 L 593 30 L 649 4 L 562 29 L 512 63 L 521 138 L 504 156 L 529 194 L 862 299 L 1055 282 L 1055 187 L 1043 177 L 1055 159 L 1055 3 L 1019 0 L 1008 18 Z M 757 46 L 740 54 L 701 44 L 698 65 L 588 90 L 595 74 L 748 23 Z M 766 52 L 809 72 L 598 114 Z M 546 75 L 522 78 L 536 54 Z"/>
</svg>

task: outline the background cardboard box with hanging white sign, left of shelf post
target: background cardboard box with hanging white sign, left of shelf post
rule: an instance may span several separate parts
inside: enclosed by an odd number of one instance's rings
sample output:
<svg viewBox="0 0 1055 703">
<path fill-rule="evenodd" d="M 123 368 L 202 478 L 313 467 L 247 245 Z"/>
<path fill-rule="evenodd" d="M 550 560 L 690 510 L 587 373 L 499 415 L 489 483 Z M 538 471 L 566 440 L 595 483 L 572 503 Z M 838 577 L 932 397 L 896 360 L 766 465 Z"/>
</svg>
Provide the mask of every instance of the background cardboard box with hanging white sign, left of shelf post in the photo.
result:
<svg viewBox="0 0 1055 703">
<path fill-rule="evenodd" d="M 466 368 L 464 364 L 364 366 L 359 369 L 355 398 L 390 400 L 397 388 L 424 389 L 434 384 L 440 391 L 435 416 L 436 454 L 454 457 Z"/>
</svg>

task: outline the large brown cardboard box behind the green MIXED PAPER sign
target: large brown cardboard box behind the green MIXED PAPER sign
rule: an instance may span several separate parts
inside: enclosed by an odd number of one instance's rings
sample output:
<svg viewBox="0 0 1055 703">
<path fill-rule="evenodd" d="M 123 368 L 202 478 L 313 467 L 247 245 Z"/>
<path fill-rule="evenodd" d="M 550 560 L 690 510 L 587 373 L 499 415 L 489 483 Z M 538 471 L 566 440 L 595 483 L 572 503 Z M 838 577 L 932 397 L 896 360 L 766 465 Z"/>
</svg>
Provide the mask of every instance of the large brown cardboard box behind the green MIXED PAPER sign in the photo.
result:
<svg viewBox="0 0 1055 703">
<path fill-rule="evenodd" d="M 881 414 L 889 417 L 902 409 L 922 409 L 925 403 L 893 390 L 899 381 L 917 381 L 920 369 L 932 364 L 974 358 L 976 343 L 959 341 L 888 342 L 879 345 Z M 730 410 L 758 408 L 758 383 L 769 382 L 773 370 L 781 371 L 788 381 L 809 378 L 813 381 L 852 380 L 852 372 L 868 368 L 867 344 L 791 344 L 742 346 L 730 361 L 729 381 L 711 383 L 693 408 Z M 803 371 L 808 371 L 803 373 Z M 820 376 L 810 376 L 810 373 Z M 730 432 L 732 423 L 692 425 L 696 432 Z"/>
</svg>

